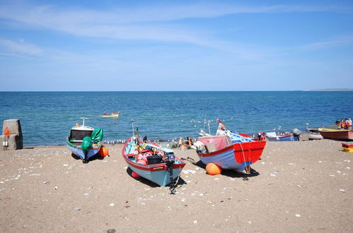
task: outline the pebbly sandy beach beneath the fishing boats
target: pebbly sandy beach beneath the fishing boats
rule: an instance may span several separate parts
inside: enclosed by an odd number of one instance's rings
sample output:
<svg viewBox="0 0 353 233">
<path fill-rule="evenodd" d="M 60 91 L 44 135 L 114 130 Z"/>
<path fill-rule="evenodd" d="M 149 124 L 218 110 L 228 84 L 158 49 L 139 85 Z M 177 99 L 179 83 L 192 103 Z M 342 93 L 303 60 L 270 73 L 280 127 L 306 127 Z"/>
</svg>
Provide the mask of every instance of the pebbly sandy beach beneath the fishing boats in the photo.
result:
<svg viewBox="0 0 353 233">
<path fill-rule="evenodd" d="M 0 153 L 1 232 L 352 232 L 353 153 L 340 141 L 267 142 L 257 175 L 206 174 L 178 193 L 127 174 L 122 145 L 83 164 L 66 146 Z"/>
</svg>

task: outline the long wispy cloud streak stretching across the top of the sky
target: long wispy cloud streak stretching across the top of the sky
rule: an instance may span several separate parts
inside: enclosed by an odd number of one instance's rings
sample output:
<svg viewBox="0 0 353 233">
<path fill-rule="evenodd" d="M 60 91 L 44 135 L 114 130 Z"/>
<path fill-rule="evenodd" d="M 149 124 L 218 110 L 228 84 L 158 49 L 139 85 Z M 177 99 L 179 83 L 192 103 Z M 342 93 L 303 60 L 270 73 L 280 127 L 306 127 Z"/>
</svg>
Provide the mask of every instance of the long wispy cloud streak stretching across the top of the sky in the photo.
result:
<svg viewBox="0 0 353 233">
<path fill-rule="evenodd" d="M 183 4 L 116 8 L 59 8 L 29 4 L 2 4 L 0 18 L 86 37 L 121 40 L 155 40 L 212 46 L 214 39 L 199 28 L 178 26 L 187 18 L 214 18 L 236 13 L 279 13 L 308 11 L 352 11 L 335 6 L 239 6 L 235 4 Z"/>
</svg>

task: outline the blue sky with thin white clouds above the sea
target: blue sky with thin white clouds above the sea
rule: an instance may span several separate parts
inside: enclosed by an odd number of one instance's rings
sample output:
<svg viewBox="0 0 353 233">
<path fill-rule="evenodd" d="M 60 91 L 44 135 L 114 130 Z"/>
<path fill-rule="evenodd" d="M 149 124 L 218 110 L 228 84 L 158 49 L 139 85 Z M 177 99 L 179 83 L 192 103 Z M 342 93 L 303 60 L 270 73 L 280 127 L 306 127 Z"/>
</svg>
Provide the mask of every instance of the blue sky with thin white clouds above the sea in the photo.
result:
<svg viewBox="0 0 353 233">
<path fill-rule="evenodd" d="M 353 88 L 353 1 L 1 1 L 0 91 Z"/>
</svg>

